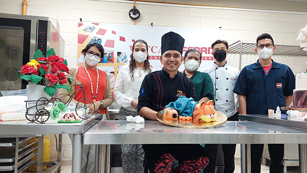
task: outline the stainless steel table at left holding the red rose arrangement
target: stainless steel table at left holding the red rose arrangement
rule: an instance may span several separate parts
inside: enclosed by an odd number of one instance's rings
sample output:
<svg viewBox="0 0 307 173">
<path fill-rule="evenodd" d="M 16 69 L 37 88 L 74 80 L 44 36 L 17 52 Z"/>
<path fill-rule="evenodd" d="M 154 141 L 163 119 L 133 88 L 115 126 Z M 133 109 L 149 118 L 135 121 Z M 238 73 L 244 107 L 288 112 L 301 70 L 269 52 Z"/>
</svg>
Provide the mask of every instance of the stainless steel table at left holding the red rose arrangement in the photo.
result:
<svg viewBox="0 0 307 173">
<path fill-rule="evenodd" d="M 51 119 L 45 123 L 30 122 L 28 120 L 2 121 L 0 122 L 0 138 L 38 137 L 37 157 L 41 159 L 37 159 L 37 172 L 41 172 L 43 136 L 46 134 L 73 134 L 72 172 L 79 173 L 82 165 L 83 133 L 101 119 L 101 115 L 93 115 L 93 117 L 82 120 L 80 123 L 57 123 L 56 120 Z"/>
</svg>

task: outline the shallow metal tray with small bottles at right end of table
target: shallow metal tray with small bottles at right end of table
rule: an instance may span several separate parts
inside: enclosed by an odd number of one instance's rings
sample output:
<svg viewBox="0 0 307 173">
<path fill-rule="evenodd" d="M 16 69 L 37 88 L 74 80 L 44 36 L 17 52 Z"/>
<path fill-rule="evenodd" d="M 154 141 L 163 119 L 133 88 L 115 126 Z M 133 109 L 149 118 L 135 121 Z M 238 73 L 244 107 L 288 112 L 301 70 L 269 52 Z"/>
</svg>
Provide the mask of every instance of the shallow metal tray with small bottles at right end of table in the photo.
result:
<svg viewBox="0 0 307 173">
<path fill-rule="evenodd" d="M 239 115 L 238 118 L 240 120 L 307 129 L 307 122 L 291 119 L 290 116 L 284 115 L 281 115 L 281 119 L 269 118 L 268 115 Z"/>
</svg>

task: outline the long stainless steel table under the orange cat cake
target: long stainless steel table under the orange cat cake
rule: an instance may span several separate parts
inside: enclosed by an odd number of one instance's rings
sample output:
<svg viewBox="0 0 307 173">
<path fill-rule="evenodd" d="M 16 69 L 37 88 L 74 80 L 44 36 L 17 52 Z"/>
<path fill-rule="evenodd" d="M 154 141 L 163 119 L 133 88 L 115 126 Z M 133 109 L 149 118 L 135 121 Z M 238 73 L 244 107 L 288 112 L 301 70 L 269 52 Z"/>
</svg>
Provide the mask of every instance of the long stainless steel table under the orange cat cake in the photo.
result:
<svg viewBox="0 0 307 173">
<path fill-rule="evenodd" d="M 307 143 L 307 131 L 303 129 L 250 121 L 227 121 L 212 128 L 180 128 L 146 120 L 144 128 L 130 129 L 134 125 L 135 123 L 127 121 L 100 121 L 84 133 L 84 144 L 97 144 L 101 147 L 102 144 L 294 143 L 306 146 Z M 249 145 L 241 147 L 241 172 L 250 171 L 249 149 Z M 300 166 L 304 168 L 307 165 L 306 149 L 300 151 L 300 155 Z M 107 172 L 108 165 L 105 163 L 102 166 Z M 98 170 L 101 170 L 99 164 Z M 307 173 L 306 170 L 305 168 L 301 172 Z"/>
</svg>

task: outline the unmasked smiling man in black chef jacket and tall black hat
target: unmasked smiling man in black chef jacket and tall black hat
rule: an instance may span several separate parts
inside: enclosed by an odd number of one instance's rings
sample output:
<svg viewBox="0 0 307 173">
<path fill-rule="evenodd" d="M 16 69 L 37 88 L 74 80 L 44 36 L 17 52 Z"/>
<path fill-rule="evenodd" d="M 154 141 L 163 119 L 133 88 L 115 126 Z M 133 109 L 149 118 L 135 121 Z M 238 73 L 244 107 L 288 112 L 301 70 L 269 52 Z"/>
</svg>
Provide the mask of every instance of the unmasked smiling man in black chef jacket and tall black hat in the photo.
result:
<svg viewBox="0 0 307 173">
<path fill-rule="evenodd" d="M 149 120 L 157 120 L 156 114 L 169 102 L 180 96 L 196 99 L 193 83 L 178 72 L 182 64 L 184 38 L 168 32 L 161 40 L 160 71 L 145 76 L 140 89 L 138 113 Z M 207 164 L 206 152 L 200 144 L 146 144 L 145 164 L 150 172 L 170 172 L 174 160 L 179 166 L 174 172 L 199 172 Z"/>
</svg>

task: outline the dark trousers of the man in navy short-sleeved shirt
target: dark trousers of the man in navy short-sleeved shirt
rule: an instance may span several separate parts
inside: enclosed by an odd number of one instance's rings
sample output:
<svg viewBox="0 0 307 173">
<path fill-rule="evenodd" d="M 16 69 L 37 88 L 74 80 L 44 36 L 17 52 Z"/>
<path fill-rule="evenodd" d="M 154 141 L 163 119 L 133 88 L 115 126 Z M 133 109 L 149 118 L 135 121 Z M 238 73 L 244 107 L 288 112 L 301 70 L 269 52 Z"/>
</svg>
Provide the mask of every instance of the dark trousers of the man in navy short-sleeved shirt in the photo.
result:
<svg viewBox="0 0 307 173">
<path fill-rule="evenodd" d="M 284 144 L 268 144 L 270 153 L 270 173 L 283 173 Z M 264 144 L 251 144 L 252 173 L 261 170 L 260 159 L 264 152 Z"/>
</svg>

